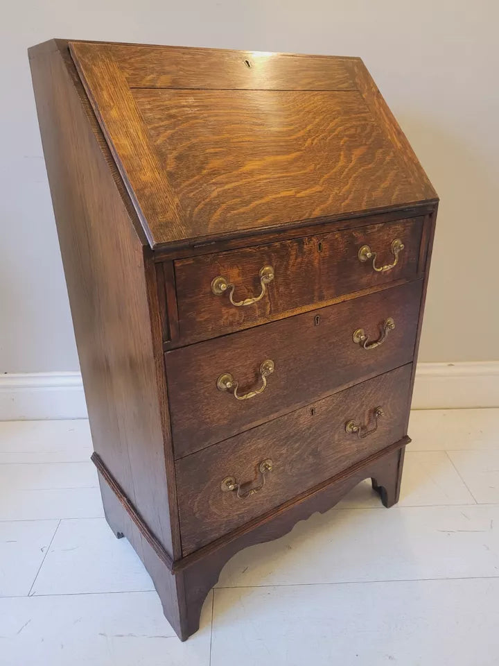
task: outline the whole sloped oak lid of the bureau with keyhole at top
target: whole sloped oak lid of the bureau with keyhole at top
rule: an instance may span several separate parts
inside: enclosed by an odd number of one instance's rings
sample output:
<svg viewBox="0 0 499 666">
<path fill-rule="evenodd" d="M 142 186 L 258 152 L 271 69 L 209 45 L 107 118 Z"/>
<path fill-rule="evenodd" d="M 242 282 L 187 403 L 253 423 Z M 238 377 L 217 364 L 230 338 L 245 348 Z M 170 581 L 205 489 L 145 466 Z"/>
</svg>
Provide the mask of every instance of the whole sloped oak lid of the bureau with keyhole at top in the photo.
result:
<svg viewBox="0 0 499 666">
<path fill-rule="evenodd" d="M 69 46 L 153 248 L 437 197 L 358 58 Z"/>
</svg>

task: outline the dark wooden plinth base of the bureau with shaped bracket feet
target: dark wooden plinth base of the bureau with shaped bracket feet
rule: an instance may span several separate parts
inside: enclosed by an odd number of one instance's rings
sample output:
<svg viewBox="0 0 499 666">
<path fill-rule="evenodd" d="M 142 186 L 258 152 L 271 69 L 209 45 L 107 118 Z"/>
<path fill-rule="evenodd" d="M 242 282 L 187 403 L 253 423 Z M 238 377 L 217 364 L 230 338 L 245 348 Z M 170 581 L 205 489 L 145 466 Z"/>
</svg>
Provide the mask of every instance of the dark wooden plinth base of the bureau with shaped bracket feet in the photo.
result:
<svg viewBox="0 0 499 666">
<path fill-rule="evenodd" d="M 114 533 L 128 538 L 148 570 L 161 599 L 164 614 L 181 640 L 198 631 L 204 599 L 216 584 L 224 565 L 240 549 L 256 543 L 277 539 L 288 533 L 300 520 L 317 511 L 324 513 L 363 479 L 371 477 L 385 506 L 398 499 L 405 445 L 408 437 L 370 456 L 351 470 L 337 475 L 330 484 L 322 484 L 296 502 L 282 506 L 261 520 L 253 521 L 251 529 L 234 531 L 222 542 L 200 549 L 173 565 L 173 572 L 150 546 L 150 541 L 119 502 L 110 486 L 99 475 L 105 513 Z"/>
</svg>

